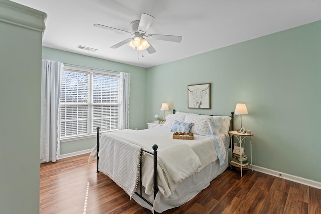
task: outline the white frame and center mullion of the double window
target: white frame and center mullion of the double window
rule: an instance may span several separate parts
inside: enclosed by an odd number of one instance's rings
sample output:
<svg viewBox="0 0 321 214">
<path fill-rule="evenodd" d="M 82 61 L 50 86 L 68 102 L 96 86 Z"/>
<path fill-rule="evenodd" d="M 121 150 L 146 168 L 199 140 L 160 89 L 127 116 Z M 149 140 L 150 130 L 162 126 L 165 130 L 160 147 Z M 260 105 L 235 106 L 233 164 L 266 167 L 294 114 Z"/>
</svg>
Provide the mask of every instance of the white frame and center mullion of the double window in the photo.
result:
<svg viewBox="0 0 321 214">
<path fill-rule="evenodd" d="M 85 68 L 78 68 L 73 66 L 64 66 L 63 71 L 61 72 L 61 79 L 60 79 L 60 87 L 62 83 L 62 76 L 64 71 L 70 71 L 70 72 L 78 72 L 78 73 L 86 73 L 89 75 L 89 87 L 88 87 L 88 113 L 87 113 L 87 134 L 80 135 L 80 136 L 69 136 L 69 137 L 63 137 L 60 136 L 60 129 L 61 129 L 61 121 L 59 121 L 59 139 L 60 142 L 67 142 L 67 141 L 74 141 L 74 140 L 81 140 L 81 139 L 87 139 L 87 138 L 93 138 L 96 137 L 97 132 L 95 132 L 95 128 L 93 127 L 93 119 L 94 119 L 94 111 L 93 106 L 95 103 L 93 103 L 93 75 L 101 75 L 101 76 L 107 76 L 107 77 L 116 77 L 118 78 L 118 127 L 117 130 L 120 129 L 120 109 L 121 109 L 121 78 L 120 73 L 114 73 L 114 72 L 108 72 L 108 71 L 99 71 L 96 69 L 85 69 Z M 82 103 L 83 104 L 83 103 Z M 63 104 L 65 105 L 65 104 Z M 67 104 L 68 105 L 68 104 Z M 80 104 L 81 105 L 81 104 Z M 97 104 L 96 104 L 97 105 Z M 60 114 L 60 98 L 59 98 L 59 120 L 61 118 Z M 93 127 L 93 130 L 92 130 Z M 101 130 L 100 130 L 101 131 Z M 107 130 L 107 131 L 101 131 L 101 132 L 111 132 L 114 130 Z"/>
</svg>

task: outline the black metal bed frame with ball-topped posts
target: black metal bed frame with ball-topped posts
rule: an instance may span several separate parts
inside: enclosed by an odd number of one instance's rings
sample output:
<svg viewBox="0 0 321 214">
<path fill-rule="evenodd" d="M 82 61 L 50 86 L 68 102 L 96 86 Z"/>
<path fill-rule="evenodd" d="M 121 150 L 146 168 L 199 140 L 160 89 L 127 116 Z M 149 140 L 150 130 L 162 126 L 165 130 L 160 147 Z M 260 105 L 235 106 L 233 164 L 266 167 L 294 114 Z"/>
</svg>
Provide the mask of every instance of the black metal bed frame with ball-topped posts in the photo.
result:
<svg viewBox="0 0 321 214">
<path fill-rule="evenodd" d="M 173 114 L 175 114 L 176 110 L 173 109 Z M 211 116 L 214 116 L 214 115 L 211 115 Z M 232 111 L 231 112 L 231 130 L 233 130 L 233 127 L 234 127 L 234 112 Z M 98 164 L 99 164 L 99 156 L 98 156 L 98 152 L 99 152 L 99 134 L 101 134 L 99 132 L 99 127 L 97 127 L 97 173 L 99 173 L 99 170 L 98 170 Z M 233 139 L 232 139 L 233 140 Z M 233 143 L 232 143 L 233 145 Z M 142 182 L 141 182 L 141 179 L 142 179 L 142 154 L 143 152 L 146 152 L 146 153 L 149 153 L 151 155 L 153 155 L 153 161 L 154 161 L 154 199 L 156 198 L 156 194 L 158 193 L 158 172 L 157 172 L 157 149 L 158 149 L 158 146 L 156 144 L 154 144 L 152 146 L 152 149 L 154 150 L 153 152 L 151 151 L 148 151 L 148 150 L 145 150 L 145 149 L 141 149 L 140 151 L 140 155 L 139 155 L 139 168 L 140 168 L 140 185 L 139 185 L 139 189 L 140 189 L 140 193 L 138 193 L 137 191 L 135 192 L 136 195 L 138 195 L 141 199 L 143 199 L 146 203 L 148 203 L 151 207 L 153 206 L 153 203 L 151 203 L 150 201 L 148 201 L 146 198 L 144 198 L 142 196 Z M 231 148 L 232 149 L 232 148 Z M 158 212 L 154 211 L 155 214 L 157 214 Z"/>
</svg>

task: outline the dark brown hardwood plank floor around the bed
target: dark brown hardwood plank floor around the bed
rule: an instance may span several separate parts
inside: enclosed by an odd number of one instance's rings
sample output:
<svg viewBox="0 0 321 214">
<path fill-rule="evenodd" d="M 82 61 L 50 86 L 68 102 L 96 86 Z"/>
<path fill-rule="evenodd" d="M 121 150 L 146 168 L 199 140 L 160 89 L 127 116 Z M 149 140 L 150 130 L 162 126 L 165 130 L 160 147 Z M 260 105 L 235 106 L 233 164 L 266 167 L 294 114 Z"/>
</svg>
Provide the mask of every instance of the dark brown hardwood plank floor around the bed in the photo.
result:
<svg viewBox="0 0 321 214">
<path fill-rule="evenodd" d="M 40 165 L 40 213 L 151 213 L 104 174 L 89 154 Z M 163 213 L 321 213 L 321 190 L 248 170 L 226 170 L 186 204 Z"/>
</svg>

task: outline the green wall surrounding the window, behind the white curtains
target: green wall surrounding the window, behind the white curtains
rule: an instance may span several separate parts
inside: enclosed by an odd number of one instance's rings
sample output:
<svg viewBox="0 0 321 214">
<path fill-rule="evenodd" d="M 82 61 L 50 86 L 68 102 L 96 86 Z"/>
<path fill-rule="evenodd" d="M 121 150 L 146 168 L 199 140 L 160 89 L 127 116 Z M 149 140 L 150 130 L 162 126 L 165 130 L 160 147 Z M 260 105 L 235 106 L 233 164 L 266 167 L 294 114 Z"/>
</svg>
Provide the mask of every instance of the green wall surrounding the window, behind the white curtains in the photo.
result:
<svg viewBox="0 0 321 214">
<path fill-rule="evenodd" d="M 42 48 L 42 58 L 55 60 L 63 63 L 98 68 L 119 72 L 130 73 L 130 100 L 129 100 L 129 127 L 131 129 L 146 128 L 146 69 L 117 63 L 67 51 L 61 51 L 48 47 Z M 60 143 L 60 153 L 68 154 L 72 152 L 92 149 L 96 143 L 96 138 L 87 138 Z"/>
</svg>

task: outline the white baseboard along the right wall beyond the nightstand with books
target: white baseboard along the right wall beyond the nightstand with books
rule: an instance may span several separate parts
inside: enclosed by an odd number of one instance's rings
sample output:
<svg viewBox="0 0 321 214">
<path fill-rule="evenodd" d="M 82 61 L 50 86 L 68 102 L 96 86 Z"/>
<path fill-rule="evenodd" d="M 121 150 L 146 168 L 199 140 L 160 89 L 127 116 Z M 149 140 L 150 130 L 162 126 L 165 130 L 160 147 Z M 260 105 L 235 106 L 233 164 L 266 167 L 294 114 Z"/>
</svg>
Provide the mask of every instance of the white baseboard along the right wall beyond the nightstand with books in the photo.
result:
<svg viewBox="0 0 321 214">
<path fill-rule="evenodd" d="M 294 175 L 285 174 L 283 172 L 274 171 L 274 170 L 263 168 L 263 167 L 256 166 L 256 165 L 253 165 L 252 167 L 253 167 L 254 171 L 262 172 L 264 174 L 269 174 L 269 175 L 272 175 L 275 177 L 283 178 L 285 180 L 290 180 L 290 181 L 293 181 L 296 183 L 300 183 L 300 184 L 311 186 L 311 187 L 314 187 L 317 189 L 321 189 L 321 183 L 314 181 L 314 180 L 309 180 L 309 179 L 306 179 L 303 177 L 297 177 Z"/>
</svg>

